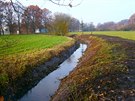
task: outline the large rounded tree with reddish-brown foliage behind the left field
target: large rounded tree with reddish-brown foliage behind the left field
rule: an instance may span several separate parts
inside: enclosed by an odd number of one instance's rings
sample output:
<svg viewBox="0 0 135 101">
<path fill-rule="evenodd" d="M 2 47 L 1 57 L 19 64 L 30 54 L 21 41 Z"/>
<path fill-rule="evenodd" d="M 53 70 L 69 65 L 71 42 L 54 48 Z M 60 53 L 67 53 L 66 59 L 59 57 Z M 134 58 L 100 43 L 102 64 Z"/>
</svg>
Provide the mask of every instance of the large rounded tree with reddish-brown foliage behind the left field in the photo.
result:
<svg viewBox="0 0 135 101">
<path fill-rule="evenodd" d="M 42 10 L 38 6 L 28 6 L 23 14 L 23 23 L 25 23 L 27 33 L 29 31 L 35 33 L 35 30 L 41 27 L 41 21 Z"/>
</svg>

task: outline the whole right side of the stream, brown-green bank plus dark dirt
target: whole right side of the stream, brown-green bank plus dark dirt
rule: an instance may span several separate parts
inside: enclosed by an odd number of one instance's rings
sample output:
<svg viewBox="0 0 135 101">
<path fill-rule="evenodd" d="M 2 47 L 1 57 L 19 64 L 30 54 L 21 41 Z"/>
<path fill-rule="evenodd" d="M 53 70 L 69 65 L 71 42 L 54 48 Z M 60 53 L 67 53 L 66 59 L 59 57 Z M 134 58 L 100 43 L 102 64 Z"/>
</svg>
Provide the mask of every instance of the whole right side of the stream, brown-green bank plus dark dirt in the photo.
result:
<svg viewBox="0 0 135 101">
<path fill-rule="evenodd" d="M 52 101 L 134 101 L 135 41 L 99 35 L 76 38 L 88 48 Z"/>
</svg>

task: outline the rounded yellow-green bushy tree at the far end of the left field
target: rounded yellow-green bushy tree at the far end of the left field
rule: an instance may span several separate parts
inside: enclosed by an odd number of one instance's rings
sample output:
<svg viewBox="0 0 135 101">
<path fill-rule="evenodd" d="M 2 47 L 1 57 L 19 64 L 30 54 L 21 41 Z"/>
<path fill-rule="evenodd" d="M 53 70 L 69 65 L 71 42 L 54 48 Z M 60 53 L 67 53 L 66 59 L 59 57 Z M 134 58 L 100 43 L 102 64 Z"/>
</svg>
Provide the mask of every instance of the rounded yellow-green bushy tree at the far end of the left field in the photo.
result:
<svg viewBox="0 0 135 101">
<path fill-rule="evenodd" d="M 66 35 L 69 32 L 70 21 L 71 17 L 69 15 L 64 13 L 56 13 L 53 22 L 55 34 Z"/>
</svg>

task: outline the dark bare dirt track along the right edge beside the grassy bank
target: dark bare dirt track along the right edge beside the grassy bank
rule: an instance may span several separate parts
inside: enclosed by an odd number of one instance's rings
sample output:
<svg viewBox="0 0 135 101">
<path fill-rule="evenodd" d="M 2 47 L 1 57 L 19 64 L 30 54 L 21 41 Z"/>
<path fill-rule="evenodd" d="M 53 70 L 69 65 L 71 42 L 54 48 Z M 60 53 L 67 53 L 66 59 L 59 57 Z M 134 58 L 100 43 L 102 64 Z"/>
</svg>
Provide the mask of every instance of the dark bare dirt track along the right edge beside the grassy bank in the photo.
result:
<svg viewBox="0 0 135 101">
<path fill-rule="evenodd" d="M 99 36 L 111 43 L 119 43 L 124 48 L 127 59 L 124 62 L 128 67 L 126 74 L 115 75 L 117 87 L 114 91 L 108 92 L 117 98 L 118 101 L 135 101 L 135 41 L 121 39 L 118 37 Z"/>
</svg>

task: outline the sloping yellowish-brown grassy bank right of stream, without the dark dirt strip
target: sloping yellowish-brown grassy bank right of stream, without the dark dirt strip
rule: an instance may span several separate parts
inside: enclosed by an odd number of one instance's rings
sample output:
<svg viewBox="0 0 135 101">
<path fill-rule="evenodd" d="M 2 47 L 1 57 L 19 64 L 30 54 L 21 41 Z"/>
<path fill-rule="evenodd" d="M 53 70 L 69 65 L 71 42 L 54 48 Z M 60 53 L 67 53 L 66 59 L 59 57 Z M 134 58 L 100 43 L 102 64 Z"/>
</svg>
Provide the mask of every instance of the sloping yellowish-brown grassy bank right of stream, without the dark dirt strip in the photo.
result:
<svg viewBox="0 0 135 101">
<path fill-rule="evenodd" d="M 77 39 L 86 42 L 88 48 L 77 68 L 62 80 L 53 101 L 105 100 L 106 90 L 117 86 L 115 75 L 127 71 L 123 64 L 126 59 L 124 48 L 95 36 L 84 35 Z M 103 99 L 99 99 L 100 96 Z"/>
</svg>

